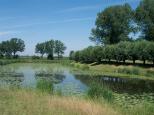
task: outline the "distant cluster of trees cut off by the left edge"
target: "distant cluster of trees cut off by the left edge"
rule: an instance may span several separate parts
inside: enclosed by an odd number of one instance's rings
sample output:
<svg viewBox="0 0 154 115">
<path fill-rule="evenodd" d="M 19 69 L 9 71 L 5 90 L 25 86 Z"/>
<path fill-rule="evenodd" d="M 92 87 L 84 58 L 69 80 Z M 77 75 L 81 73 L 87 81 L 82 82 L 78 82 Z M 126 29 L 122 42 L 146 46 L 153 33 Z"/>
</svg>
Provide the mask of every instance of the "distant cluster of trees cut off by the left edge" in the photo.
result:
<svg viewBox="0 0 154 115">
<path fill-rule="evenodd" d="M 25 43 L 22 39 L 12 38 L 0 43 L 0 58 L 17 58 L 17 52 L 25 50 Z"/>
</svg>

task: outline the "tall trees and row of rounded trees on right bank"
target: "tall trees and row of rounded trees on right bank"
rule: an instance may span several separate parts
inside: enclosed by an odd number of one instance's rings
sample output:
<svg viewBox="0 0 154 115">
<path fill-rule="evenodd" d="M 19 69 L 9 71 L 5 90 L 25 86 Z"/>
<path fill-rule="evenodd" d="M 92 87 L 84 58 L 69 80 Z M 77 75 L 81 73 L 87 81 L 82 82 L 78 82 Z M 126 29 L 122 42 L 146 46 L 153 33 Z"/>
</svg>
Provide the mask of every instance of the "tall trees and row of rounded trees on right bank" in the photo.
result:
<svg viewBox="0 0 154 115">
<path fill-rule="evenodd" d="M 140 34 L 134 39 L 133 34 Z M 114 5 L 98 13 L 89 38 L 96 46 L 71 51 L 80 62 L 132 60 L 154 63 L 154 0 L 141 0 L 135 10 L 129 4 Z"/>
</svg>

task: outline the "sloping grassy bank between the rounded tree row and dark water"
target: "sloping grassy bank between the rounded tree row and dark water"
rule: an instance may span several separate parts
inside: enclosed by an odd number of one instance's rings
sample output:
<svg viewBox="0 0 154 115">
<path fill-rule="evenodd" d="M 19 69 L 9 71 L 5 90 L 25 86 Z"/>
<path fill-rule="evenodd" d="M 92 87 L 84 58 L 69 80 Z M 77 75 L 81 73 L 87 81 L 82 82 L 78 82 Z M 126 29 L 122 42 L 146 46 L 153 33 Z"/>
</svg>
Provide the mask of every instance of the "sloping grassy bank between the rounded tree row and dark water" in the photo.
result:
<svg viewBox="0 0 154 115">
<path fill-rule="evenodd" d="M 122 78 L 139 78 L 154 80 L 154 68 L 139 67 L 133 65 L 110 65 L 110 64 L 81 64 L 71 63 L 71 65 L 77 69 L 80 69 L 80 73 L 88 75 L 104 75 L 111 77 Z"/>
</svg>

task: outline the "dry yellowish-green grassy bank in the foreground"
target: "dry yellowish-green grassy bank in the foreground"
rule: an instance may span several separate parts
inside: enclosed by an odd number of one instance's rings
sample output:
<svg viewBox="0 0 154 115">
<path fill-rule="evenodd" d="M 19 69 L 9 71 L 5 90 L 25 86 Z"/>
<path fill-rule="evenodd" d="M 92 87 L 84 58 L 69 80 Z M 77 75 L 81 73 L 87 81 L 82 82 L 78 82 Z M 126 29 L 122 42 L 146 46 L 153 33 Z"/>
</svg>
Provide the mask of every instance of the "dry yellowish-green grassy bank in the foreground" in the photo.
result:
<svg viewBox="0 0 154 115">
<path fill-rule="evenodd" d="M 31 90 L 0 89 L 1 115 L 120 115 L 107 104 L 51 96 Z"/>
</svg>

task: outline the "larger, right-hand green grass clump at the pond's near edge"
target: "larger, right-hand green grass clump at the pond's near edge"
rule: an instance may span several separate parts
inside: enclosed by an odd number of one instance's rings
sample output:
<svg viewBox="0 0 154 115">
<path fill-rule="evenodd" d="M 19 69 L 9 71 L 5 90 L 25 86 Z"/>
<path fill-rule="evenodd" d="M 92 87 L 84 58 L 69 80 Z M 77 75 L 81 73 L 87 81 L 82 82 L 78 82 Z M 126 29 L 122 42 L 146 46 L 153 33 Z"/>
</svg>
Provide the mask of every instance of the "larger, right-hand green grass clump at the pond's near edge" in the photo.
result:
<svg viewBox="0 0 154 115">
<path fill-rule="evenodd" d="M 114 99 L 113 92 L 105 85 L 99 85 L 93 83 L 88 90 L 88 96 L 93 99 L 104 98 L 108 102 L 112 102 Z"/>
</svg>

